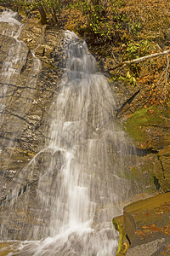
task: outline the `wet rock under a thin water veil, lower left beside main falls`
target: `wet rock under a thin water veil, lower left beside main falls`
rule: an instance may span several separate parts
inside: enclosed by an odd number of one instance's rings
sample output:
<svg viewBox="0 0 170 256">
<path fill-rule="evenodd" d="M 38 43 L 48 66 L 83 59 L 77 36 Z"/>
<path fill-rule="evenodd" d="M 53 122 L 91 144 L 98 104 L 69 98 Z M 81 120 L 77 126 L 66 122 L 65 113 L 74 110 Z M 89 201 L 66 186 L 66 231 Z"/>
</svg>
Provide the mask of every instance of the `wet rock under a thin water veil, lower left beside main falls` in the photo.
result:
<svg viewBox="0 0 170 256">
<path fill-rule="evenodd" d="M 39 237 L 41 239 L 48 236 L 48 234 L 44 235 L 44 229 L 48 226 L 51 209 L 49 207 L 43 207 L 42 209 L 42 201 L 37 198 L 37 188 L 39 192 L 41 190 L 38 187 L 38 178 L 41 178 L 43 182 L 47 182 L 45 173 L 48 168 L 48 159 L 51 159 L 54 163 L 52 170 L 54 172 L 52 172 L 51 178 L 56 181 L 58 172 L 64 164 L 64 158 L 59 150 L 54 151 L 52 148 L 42 150 L 27 165 L 25 162 L 25 166 L 20 172 L 11 172 L 11 180 L 7 187 L 8 194 L 3 196 L 0 201 L 0 223 L 3 223 L 1 236 L 3 239 L 10 237 L 11 239 L 22 241 L 26 240 L 27 237 L 31 237 L 31 239 Z M 48 182 L 50 183 L 50 180 Z M 56 191 L 54 187 L 55 184 L 52 183 L 51 197 L 55 197 Z M 44 194 L 45 199 L 48 196 L 48 191 L 41 192 Z M 14 201 L 15 198 L 16 201 Z M 8 211 L 8 206 L 11 205 L 14 207 L 11 207 L 10 211 Z M 37 231 L 34 229 L 33 232 L 32 230 L 35 226 Z"/>
</svg>

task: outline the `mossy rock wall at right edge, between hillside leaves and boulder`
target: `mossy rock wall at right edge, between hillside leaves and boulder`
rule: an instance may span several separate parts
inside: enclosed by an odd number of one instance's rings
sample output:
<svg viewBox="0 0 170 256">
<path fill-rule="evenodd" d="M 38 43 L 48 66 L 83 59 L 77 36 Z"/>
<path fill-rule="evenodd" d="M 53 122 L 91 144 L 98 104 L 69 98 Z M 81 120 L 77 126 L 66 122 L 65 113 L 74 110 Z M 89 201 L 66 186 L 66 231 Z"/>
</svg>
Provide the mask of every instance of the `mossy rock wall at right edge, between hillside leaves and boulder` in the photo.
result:
<svg viewBox="0 0 170 256">
<path fill-rule="evenodd" d="M 138 156 L 139 170 L 148 175 L 156 189 L 170 189 L 170 114 L 169 105 L 143 108 L 124 119 L 125 131 L 137 148 L 146 152 Z"/>
</svg>

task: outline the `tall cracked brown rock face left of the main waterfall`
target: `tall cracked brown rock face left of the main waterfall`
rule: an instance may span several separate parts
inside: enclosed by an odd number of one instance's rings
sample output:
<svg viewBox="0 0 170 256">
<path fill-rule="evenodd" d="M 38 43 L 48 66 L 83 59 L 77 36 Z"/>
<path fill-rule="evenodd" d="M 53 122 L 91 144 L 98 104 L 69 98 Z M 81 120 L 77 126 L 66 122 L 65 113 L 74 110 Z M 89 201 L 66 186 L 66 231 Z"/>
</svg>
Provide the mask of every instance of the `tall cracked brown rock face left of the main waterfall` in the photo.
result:
<svg viewBox="0 0 170 256">
<path fill-rule="evenodd" d="M 21 183 L 22 192 L 31 191 L 31 209 L 38 203 L 33 198 L 37 188 L 36 175 L 40 175 L 40 156 L 33 176 L 25 177 L 25 180 L 16 177 L 20 177 L 20 171 L 26 168 L 39 148 L 42 148 L 45 138 L 48 139 L 48 108 L 53 96 L 58 93 L 57 83 L 61 72 L 54 55 L 58 55 L 59 59 L 62 33 L 45 31 L 45 28 L 32 20 L 27 20 L 22 26 L 20 23 L 0 22 L 0 222 L 5 214 L 5 205 L 10 201 L 11 191 L 17 183 Z M 59 164 L 56 163 L 56 166 L 59 168 Z M 31 167 L 27 172 L 31 172 Z M 24 196 L 20 196 L 16 207 L 18 210 L 24 203 Z M 28 219 L 31 217 L 26 216 L 26 212 L 19 210 L 11 214 L 11 218 L 14 218 L 14 214 L 21 214 L 25 221 L 27 219 L 23 225 L 29 227 Z M 16 234 L 19 237 L 22 229 L 22 224 L 17 220 L 20 216 L 15 216 L 14 222 L 8 223 L 6 229 L 13 238 Z"/>
</svg>

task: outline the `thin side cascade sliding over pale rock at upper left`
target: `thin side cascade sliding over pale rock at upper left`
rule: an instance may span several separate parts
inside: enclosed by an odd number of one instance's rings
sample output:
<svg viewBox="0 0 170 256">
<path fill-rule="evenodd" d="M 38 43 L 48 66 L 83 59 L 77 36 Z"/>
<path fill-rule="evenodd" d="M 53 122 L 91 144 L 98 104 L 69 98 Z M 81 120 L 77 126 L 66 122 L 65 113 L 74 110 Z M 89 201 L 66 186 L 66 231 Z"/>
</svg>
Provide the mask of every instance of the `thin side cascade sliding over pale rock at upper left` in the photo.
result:
<svg viewBox="0 0 170 256">
<path fill-rule="evenodd" d="M 34 93 L 33 89 L 37 82 L 38 73 L 41 70 L 41 61 L 37 58 L 34 53 L 31 53 L 27 45 L 20 41 L 20 32 L 22 30 L 23 24 L 20 21 L 15 19 L 17 13 L 14 13 L 11 10 L 4 11 L 0 15 L 0 34 L 1 38 L 8 38 L 7 42 L 4 42 L 2 51 L 7 51 L 7 55 L 3 60 L 3 66 L 1 68 L 0 75 L 0 126 L 3 124 L 5 114 L 8 114 L 8 108 L 11 104 L 14 104 L 13 115 L 19 116 L 22 118 L 26 111 L 29 109 L 31 100 L 30 97 Z M 9 48 L 7 50 L 7 46 Z M 22 81 L 22 73 L 26 68 L 27 57 L 31 54 L 32 64 L 31 70 L 28 73 L 28 79 L 24 83 Z M 21 83 L 23 85 L 21 86 Z M 17 99 L 18 95 L 18 99 Z M 11 96 L 16 96 L 15 103 L 11 102 L 9 98 Z M 20 98 L 22 101 L 20 101 Z M 24 100 L 23 100 L 24 99 Z M 15 127 L 15 137 L 17 126 Z M 8 127 L 5 128 L 6 131 L 10 132 L 14 124 L 8 124 Z M 12 138 L 11 138 L 12 139 Z M 12 141 L 12 140 L 11 140 Z"/>
</svg>

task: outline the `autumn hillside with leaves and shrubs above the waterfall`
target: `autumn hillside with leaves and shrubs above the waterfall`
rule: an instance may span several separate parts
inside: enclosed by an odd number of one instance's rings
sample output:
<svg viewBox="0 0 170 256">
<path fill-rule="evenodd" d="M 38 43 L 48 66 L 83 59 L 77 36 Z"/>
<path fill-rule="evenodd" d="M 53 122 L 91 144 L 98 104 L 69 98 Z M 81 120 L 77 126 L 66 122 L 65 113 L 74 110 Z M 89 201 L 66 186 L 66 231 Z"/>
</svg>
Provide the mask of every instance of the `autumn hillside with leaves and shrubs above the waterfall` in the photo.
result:
<svg viewBox="0 0 170 256">
<path fill-rule="evenodd" d="M 91 51 L 109 63 L 106 69 L 112 80 L 144 88 L 145 108 L 169 101 L 168 54 L 152 57 L 170 47 L 168 0 L 0 0 L 0 4 L 86 38 Z M 145 55 L 151 57 L 120 65 Z"/>
</svg>

